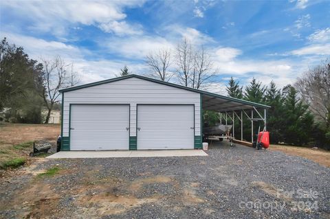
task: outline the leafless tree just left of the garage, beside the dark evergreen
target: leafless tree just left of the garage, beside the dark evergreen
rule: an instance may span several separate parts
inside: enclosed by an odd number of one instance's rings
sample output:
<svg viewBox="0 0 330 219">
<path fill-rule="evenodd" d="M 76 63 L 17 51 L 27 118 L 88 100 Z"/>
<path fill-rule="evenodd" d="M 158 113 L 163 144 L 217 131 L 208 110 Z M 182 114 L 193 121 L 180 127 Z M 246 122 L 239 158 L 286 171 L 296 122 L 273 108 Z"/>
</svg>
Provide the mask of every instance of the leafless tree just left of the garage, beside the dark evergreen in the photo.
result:
<svg viewBox="0 0 330 219">
<path fill-rule="evenodd" d="M 73 71 L 72 64 L 66 64 L 60 56 L 54 60 L 41 59 L 43 62 L 43 100 L 47 106 L 48 113 L 45 120 L 47 124 L 50 120 L 53 106 L 58 102 L 59 90 L 65 87 L 72 87 L 78 84 L 80 78 Z M 70 71 L 68 73 L 68 71 Z"/>
</svg>

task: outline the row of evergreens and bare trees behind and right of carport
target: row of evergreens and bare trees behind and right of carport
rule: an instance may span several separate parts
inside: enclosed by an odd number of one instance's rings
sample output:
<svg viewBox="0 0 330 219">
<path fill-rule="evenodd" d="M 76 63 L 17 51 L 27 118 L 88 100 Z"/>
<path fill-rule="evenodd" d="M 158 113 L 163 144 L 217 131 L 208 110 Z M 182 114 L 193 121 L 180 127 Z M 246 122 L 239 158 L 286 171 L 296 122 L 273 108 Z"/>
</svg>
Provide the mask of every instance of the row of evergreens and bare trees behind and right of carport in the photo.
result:
<svg viewBox="0 0 330 219">
<path fill-rule="evenodd" d="M 243 87 L 238 80 L 231 78 L 226 91 L 230 97 L 271 106 L 267 110 L 267 130 L 272 143 L 330 149 L 329 60 L 309 69 L 295 84 L 288 84 L 283 89 L 278 89 L 274 82 L 265 86 L 256 79 Z M 248 121 L 244 122 L 243 130 L 243 137 L 250 139 Z M 235 130 L 235 135 L 239 136 L 240 130 Z"/>
</svg>

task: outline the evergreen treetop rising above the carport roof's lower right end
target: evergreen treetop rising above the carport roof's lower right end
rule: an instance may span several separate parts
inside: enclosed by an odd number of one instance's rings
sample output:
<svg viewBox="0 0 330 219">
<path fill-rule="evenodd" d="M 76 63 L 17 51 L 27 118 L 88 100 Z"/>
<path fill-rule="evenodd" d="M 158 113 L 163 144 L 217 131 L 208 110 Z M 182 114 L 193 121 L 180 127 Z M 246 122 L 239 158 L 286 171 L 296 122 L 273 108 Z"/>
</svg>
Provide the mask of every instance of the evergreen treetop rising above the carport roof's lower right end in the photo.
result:
<svg viewBox="0 0 330 219">
<path fill-rule="evenodd" d="M 262 104 L 265 102 L 265 91 L 266 87 L 253 78 L 250 84 L 245 87 L 244 99 Z"/>
</svg>

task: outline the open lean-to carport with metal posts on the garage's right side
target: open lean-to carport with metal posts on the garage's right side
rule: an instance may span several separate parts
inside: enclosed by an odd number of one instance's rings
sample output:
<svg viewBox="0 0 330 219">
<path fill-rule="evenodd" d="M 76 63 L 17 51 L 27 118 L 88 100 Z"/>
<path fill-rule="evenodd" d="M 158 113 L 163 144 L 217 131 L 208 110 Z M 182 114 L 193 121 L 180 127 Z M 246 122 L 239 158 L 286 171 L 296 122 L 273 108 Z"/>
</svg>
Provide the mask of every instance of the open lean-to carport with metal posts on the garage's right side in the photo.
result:
<svg viewBox="0 0 330 219">
<path fill-rule="evenodd" d="M 203 111 L 219 113 L 219 122 L 221 124 L 232 124 L 232 137 L 234 139 L 243 141 L 244 117 L 247 117 L 251 122 L 251 143 L 254 141 L 254 122 L 262 121 L 264 128 L 266 128 L 267 108 L 270 108 L 270 106 L 204 91 L 201 91 L 201 102 Z M 240 122 L 239 127 L 235 127 L 236 119 Z M 235 128 L 241 129 L 240 137 L 234 136 Z"/>
</svg>

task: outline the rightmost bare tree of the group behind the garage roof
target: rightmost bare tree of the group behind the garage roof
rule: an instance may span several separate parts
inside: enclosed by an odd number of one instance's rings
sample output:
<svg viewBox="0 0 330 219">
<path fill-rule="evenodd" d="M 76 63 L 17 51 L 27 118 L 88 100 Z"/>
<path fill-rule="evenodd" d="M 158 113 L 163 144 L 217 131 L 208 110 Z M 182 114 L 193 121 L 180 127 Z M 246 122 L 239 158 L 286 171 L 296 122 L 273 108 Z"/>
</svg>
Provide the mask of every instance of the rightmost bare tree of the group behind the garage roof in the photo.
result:
<svg viewBox="0 0 330 219">
<path fill-rule="evenodd" d="M 206 54 L 204 47 L 201 47 L 194 54 L 194 65 L 190 77 L 190 84 L 192 88 L 201 89 L 205 87 L 205 83 L 215 75 L 213 63 L 208 54 Z"/>
</svg>

